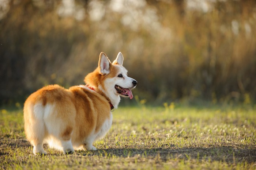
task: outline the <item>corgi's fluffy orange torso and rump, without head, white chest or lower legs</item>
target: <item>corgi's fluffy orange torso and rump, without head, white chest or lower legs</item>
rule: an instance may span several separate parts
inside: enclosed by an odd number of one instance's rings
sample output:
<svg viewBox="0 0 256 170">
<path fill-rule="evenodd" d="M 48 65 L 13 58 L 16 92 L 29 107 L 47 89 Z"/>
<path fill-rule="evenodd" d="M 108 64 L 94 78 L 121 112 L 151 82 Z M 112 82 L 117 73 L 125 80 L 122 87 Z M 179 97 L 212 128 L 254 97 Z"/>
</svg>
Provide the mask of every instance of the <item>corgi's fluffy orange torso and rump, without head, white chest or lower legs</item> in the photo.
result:
<svg viewBox="0 0 256 170">
<path fill-rule="evenodd" d="M 45 86 L 31 94 L 24 107 L 26 136 L 34 145 L 50 135 L 63 140 L 71 137 L 72 143 L 82 143 L 90 134 L 98 133 L 109 118 L 108 101 L 81 86 Z M 31 129 L 31 125 L 38 128 Z"/>
</svg>

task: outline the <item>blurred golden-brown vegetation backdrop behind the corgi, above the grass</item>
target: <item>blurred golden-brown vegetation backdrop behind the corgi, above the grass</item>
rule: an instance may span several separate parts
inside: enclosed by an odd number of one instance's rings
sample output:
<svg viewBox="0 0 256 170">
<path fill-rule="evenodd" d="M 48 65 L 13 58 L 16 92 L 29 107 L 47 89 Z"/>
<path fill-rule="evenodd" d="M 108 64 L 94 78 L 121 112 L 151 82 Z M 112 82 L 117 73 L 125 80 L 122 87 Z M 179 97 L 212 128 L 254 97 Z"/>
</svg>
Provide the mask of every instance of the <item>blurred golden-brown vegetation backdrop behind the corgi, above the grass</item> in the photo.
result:
<svg viewBox="0 0 256 170">
<path fill-rule="evenodd" d="M 124 55 L 142 103 L 252 103 L 255 0 L 0 0 L 0 104 Z M 124 100 L 124 105 L 136 100 Z"/>
</svg>

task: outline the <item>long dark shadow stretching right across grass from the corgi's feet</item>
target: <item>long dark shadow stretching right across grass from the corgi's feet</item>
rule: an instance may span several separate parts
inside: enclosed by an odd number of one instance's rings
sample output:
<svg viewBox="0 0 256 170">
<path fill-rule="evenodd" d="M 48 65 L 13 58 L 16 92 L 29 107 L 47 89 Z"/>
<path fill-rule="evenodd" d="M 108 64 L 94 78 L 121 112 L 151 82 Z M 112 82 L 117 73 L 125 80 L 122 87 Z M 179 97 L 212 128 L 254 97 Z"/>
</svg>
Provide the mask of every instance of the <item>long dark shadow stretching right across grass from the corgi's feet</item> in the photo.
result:
<svg viewBox="0 0 256 170">
<path fill-rule="evenodd" d="M 120 158 L 147 158 L 161 159 L 168 161 L 171 159 L 184 159 L 195 161 L 222 161 L 222 162 L 248 162 L 256 161 L 256 148 L 249 150 L 248 148 L 234 148 L 230 146 L 221 147 L 191 147 L 176 148 L 170 146 L 168 148 L 108 148 L 98 149 L 97 151 L 77 151 L 83 156 L 99 156 L 99 157 L 115 157 Z"/>
</svg>

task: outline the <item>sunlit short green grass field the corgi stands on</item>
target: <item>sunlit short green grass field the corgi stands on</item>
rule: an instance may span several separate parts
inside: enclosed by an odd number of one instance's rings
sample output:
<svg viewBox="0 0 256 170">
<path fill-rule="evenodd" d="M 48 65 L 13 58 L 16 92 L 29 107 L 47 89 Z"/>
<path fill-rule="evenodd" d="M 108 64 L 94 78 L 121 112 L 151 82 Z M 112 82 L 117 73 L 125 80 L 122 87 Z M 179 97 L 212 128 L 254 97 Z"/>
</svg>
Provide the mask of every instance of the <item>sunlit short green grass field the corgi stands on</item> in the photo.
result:
<svg viewBox="0 0 256 170">
<path fill-rule="evenodd" d="M 19 107 L 19 105 L 18 105 Z M 1 169 L 256 169 L 256 106 L 120 107 L 97 151 L 44 145 L 35 156 L 22 108 L 0 110 Z"/>
</svg>

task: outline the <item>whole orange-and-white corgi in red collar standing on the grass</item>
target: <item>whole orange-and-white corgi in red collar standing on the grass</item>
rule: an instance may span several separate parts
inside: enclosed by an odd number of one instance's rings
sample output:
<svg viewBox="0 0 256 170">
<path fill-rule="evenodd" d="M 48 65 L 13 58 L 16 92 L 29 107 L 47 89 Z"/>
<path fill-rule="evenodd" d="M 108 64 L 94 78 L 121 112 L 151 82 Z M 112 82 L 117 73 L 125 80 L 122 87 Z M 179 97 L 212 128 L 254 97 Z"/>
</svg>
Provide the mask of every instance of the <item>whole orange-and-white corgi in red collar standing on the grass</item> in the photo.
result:
<svg viewBox="0 0 256 170">
<path fill-rule="evenodd" d="M 32 93 L 24 104 L 25 134 L 33 153 L 44 154 L 49 147 L 72 154 L 75 150 L 97 150 L 93 142 L 106 135 L 112 125 L 112 112 L 120 96 L 133 98 L 137 81 L 127 76 L 123 55 L 111 63 L 105 53 L 98 67 L 89 73 L 86 85 L 65 89 L 48 85 Z"/>
</svg>

